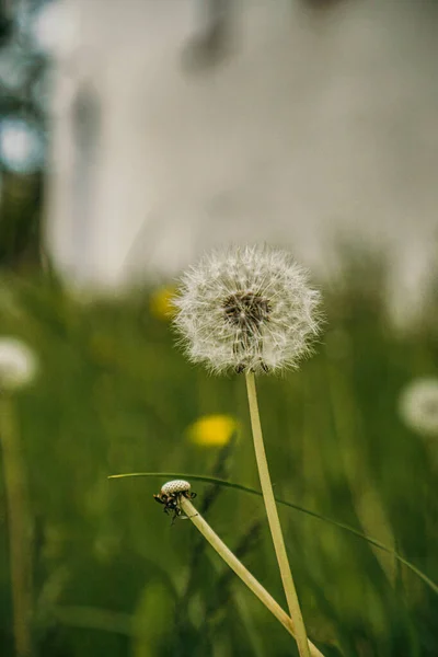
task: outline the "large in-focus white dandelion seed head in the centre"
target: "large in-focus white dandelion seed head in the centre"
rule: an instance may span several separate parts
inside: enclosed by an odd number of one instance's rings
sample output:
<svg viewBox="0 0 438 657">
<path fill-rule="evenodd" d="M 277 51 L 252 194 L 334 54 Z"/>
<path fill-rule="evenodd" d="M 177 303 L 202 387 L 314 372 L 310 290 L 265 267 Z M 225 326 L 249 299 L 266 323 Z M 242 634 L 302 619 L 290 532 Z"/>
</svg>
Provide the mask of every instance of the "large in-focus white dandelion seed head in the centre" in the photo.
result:
<svg viewBox="0 0 438 657">
<path fill-rule="evenodd" d="M 215 251 L 182 278 L 174 324 L 193 362 L 216 372 L 296 368 L 320 330 L 320 293 L 284 251 Z"/>
</svg>

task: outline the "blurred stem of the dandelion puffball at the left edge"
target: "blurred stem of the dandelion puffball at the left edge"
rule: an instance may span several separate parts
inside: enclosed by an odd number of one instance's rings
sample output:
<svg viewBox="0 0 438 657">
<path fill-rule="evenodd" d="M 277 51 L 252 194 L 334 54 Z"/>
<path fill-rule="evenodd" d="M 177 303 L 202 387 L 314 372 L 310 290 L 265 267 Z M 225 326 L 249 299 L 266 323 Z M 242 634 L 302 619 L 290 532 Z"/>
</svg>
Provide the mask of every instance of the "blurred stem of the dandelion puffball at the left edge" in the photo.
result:
<svg viewBox="0 0 438 657">
<path fill-rule="evenodd" d="M 0 396 L 0 445 L 8 507 L 15 652 L 18 657 L 30 657 L 32 654 L 30 629 L 32 593 L 31 555 L 30 550 L 26 551 L 27 496 L 13 400 L 3 392 Z"/>
</svg>

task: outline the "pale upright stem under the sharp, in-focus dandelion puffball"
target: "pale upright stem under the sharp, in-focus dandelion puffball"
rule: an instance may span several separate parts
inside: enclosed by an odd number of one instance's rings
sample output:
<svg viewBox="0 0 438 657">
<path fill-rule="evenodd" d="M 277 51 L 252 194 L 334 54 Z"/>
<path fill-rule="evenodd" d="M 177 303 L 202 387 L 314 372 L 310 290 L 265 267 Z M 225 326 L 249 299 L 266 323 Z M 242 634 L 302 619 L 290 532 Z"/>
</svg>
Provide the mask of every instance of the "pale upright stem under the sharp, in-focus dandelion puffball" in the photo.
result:
<svg viewBox="0 0 438 657">
<path fill-rule="evenodd" d="M 309 657 L 309 642 L 306 632 L 306 625 L 302 618 L 300 603 L 298 601 L 297 596 L 297 589 L 295 587 L 293 577 L 286 552 L 285 539 L 283 538 L 280 520 L 275 504 L 273 484 L 270 482 L 269 469 L 266 460 L 262 425 L 258 413 L 257 392 L 255 388 L 255 376 L 253 372 L 246 372 L 246 388 L 247 401 L 250 404 L 251 426 L 253 429 L 255 458 L 257 461 L 258 475 L 270 534 L 273 537 L 274 549 L 277 555 L 277 562 L 280 569 L 283 587 L 285 589 L 289 613 L 295 622 L 296 638 L 300 657 Z"/>
</svg>

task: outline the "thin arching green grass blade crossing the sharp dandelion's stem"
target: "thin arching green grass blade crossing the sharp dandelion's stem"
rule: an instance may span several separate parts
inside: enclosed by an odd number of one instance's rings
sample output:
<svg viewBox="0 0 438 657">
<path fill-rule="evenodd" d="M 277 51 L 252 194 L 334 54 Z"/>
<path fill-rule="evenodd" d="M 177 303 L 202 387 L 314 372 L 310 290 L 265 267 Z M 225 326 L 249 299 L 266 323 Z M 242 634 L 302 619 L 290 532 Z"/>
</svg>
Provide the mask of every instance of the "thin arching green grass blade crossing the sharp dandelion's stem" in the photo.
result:
<svg viewBox="0 0 438 657">
<path fill-rule="evenodd" d="M 181 473 L 181 472 L 129 472 L 126 474 L 112 474 L 108 476 L 108 479 L 126 479 L 129 476 L 157 476 L 157 477 L 163 477 L 163 479 L 185 479 L 187 481 L 192 480 L 192 481 L 196 481 L 196 482 L 204 482 L 206 484 L 216 484 L 218 486 L 223 486 L 224 488 L 234 488 L 235 491 L 242 491 L 243 493 L 250 493 L 251 495 L 258 495 L 260 497 L 262 497 L 262 492 L 256 491 L 255 488 L 250 488 L 249 486 L 243 486 L 242 484 L 235 484 L 233 482 L 227 482 L 226 480 L 221 480 L 216 476 L 205 476 L 201 474 L 187 474 L 187 473 Z M 384 543 L 381 543 L 377 539 L 368 537 L 367 534 L 355 529 L 354 527 L 350 527 L 349 525 L 346 525 L 345 522 L 338 522 L 337 520 L 327 518 L 326 516 L 323 516 L 322 514 L 316 514 L 316 511 L 311 511 L 310 509 L 301 507 L 298 504 L 292 504 L 291 502 L 287 502 L 286 499 L 279 499 L 278 497 L 276 497 L 275 499 L 278 502 L 278 504 L 281 504 L 291 509 L 295 509 L 296 511 L 300 511 L 301 514 L 307 514 L 308 516 L 312 516 L 313 518 L 318 518 L 319 520 L 323 520 L 324 522 L 328 522 L 330 525 L 333 525 L 339 529 L 343 529 L 344 531 L 348 531 L 349 533 L 358 537 L 359 539 L 367 541 L 371 545 L 379 548 L 379 550 L 382 550 L 383 552 L 388 552 L 388 554 L 391 554 L 395 560 L 397 560 L 400 563 L 402 563 L 404 566 L 406 566 L 406 568 L 408 568 L 410 570 L 415 573 L 415 575 L 417 575 L 417 577 L 423 579 L 423 581 L 425 584 L 427 584 L 427 586 L 435 593 L 438 595 L 438 585 L 435 584 L 435 581 L 433 581 L 429 577 L 427 577 L 427 575 L 425 575 L 419 568 L 414 566 L 414 564 L 412 564 L 411 562 L 405 560 L 403 556 L 401 556 L 397 552 L 394 552 L 394 550 L 391 550 L 391 548 L 388 548 L 387 545 L 384 545 Z"/>
</svg>

